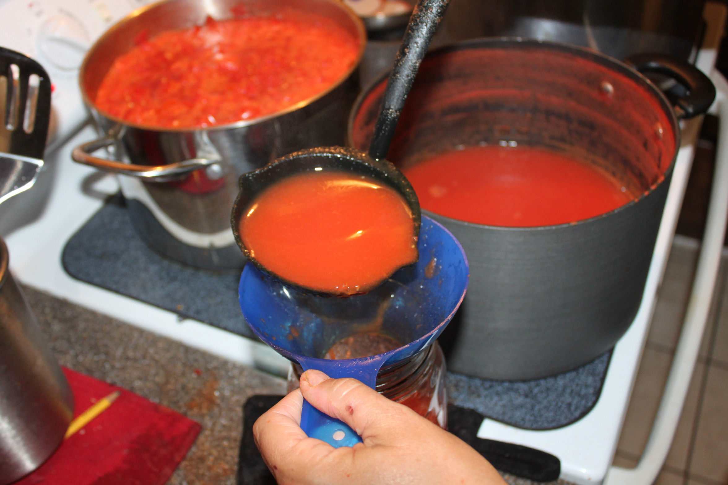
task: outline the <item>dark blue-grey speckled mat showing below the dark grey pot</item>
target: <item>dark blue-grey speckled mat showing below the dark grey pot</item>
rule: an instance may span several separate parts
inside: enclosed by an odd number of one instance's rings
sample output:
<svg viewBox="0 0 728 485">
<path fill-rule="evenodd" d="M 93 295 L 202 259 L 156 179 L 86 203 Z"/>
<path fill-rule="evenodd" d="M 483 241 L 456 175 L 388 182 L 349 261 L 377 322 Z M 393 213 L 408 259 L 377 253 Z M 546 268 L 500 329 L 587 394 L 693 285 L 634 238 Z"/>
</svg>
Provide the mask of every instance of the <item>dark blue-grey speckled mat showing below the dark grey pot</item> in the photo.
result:
<svg viewBox="0 0 728 485">
<path fill-rule="evenodd" d="M 499 381 L 448 372 L 448 401 L 528 430 L 562 428 L 596 404 L 612 350 L 589 364 L 552 377 Z"/>
</svg>

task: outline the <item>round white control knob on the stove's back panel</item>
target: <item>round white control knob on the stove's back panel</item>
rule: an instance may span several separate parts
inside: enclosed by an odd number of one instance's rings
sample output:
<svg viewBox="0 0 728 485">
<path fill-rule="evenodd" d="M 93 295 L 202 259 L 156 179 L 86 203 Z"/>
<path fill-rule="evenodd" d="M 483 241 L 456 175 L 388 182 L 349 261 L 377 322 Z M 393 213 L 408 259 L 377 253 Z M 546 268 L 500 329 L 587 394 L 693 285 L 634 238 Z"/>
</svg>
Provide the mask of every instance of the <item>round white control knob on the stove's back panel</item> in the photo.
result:
<svg viewBox="0 0 728 485">
<path fill-rule="evenodd" d="M 76 71 L 81 67 L 90 41 L 78 20 L 57 14 L 41 25 L 38 47 L 51 65 L 62 71 Z"/>
</svg>

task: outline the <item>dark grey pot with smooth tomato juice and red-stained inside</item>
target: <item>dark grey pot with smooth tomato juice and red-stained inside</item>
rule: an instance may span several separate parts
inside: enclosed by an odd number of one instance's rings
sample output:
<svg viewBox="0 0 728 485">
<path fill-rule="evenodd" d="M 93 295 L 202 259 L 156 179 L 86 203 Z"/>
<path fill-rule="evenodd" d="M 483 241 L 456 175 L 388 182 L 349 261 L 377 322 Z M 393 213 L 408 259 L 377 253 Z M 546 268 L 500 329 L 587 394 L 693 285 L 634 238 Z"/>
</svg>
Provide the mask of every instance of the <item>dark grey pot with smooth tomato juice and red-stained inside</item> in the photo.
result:
<svg viewBox="0 0 728 485">
<path fill-rule="evenodd" d="M 353 147 L 383 91 L 355 103 Z M 387 159 L 470 260 L 448 369 L 533 379 L 612 348 L 641 302 L 678 146 L 670 103 L 610 57 L 521 39 L 430 52 Z"/>
</svg>

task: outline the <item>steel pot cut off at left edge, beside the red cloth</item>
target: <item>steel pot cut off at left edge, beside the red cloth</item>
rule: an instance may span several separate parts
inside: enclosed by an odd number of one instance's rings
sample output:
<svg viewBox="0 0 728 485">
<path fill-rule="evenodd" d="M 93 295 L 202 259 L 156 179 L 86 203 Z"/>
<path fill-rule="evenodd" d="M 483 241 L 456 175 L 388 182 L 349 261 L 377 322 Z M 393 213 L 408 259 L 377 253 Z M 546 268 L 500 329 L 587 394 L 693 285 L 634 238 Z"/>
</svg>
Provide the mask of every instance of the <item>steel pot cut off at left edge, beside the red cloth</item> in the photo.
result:
<svg viewBox="0 0 728 485">
<path fill-rule="evenodd" d="M 0 239 L 0 485 L 47 460 L 73 414 L 71 388 L 8 270 Z"/>
</svg>

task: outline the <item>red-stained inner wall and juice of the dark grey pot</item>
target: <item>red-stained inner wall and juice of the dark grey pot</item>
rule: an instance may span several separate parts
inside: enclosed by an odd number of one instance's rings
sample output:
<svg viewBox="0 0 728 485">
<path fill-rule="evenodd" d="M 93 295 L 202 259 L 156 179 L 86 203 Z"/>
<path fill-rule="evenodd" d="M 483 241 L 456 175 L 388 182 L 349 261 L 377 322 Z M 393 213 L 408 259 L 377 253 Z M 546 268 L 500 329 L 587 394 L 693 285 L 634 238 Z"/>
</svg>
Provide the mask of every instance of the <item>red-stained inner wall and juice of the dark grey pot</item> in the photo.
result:
<svg viewBox="0 0 728 485">
<path fill-rule="evenodd" d="M 411 93 L 389 151 L 423 209 L 466 223 L 545 227 L 612 212 L 664 180 L 674 153 L 660 147 L 670 146 L 664 128 L 669 121 L 646 122 L 640 114 L 609 119 L 615 103 L 608 76 L 590 80 L 592 89 L 585 89 L 579 81 L 561 79 L 568 74 L 558 60 L 515 49 L 490 53 L 487 66 L 466 67 L 483 61 L 465 44 L 451 47 L 449 55 L 431 56 L 429 79 Z M 511 55 L 523 59 L 513 62 Z M 577 57 L 571 62 L 572 68 L 595 67 Z M 501 66 L 509 64 L 518 64 L 518 71 L 501 75 Z M 527 87 L 530 82 L 543 86 Z M 355 147 L 368 140 L 364 127 L 371 126 L 371 108 L 383 89 L 384 84 L 371 87 L 352 111 L 349 135 Z M 638 93 L 627 85 L 620 92 L 625 89 Z M 595 101 L 598 105 L 590 105 Z M 649 99 L 644 103 L 657 108 Z M 638 130 L 646 129 L 649 140 L 627 142 L 635 123 L 647 123 Z"/>
</svg>

